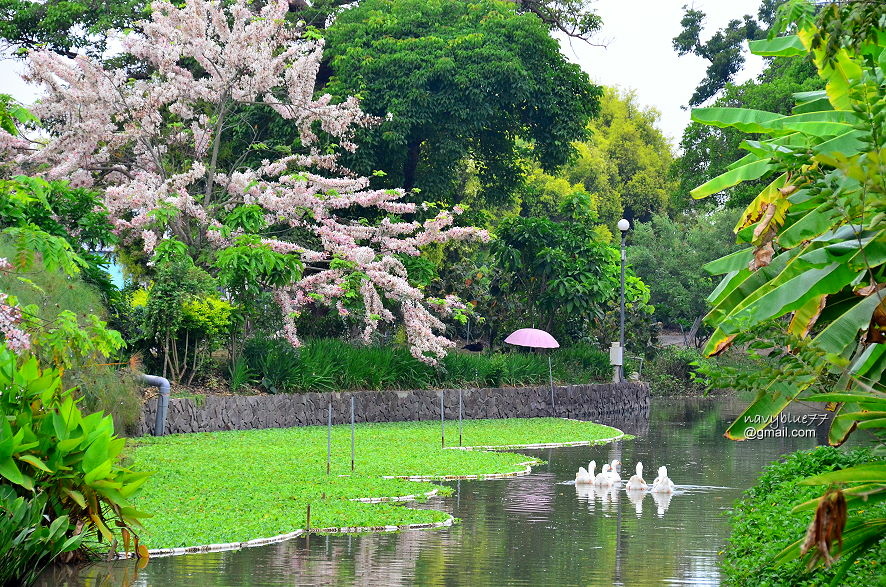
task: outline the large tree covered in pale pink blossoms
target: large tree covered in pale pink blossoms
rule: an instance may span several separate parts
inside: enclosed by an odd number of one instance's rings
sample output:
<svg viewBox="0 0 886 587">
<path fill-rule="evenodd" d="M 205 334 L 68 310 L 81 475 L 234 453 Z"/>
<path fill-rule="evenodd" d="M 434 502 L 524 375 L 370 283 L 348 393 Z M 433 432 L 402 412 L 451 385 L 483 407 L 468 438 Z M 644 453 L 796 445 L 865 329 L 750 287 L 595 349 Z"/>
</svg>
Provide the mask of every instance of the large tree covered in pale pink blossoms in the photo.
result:
<svg viewBox="0 0 886 587">
<path fill-rule="evenodd" d="M 103 187 L 118 234 L 148 254 L 174 239 L 194 256 L 212 251 L 201 258 L 214 269 L 230 260 L 225 251 L 272 256 L 270 273 L 290 270 L 264 284 L 295 346 L 294 319 L 324 304 L 360 312 L 366 339 L 399 312 L 413 356 L 443 356 L 452 343 L 429 310 L 446 315 L 463 306 L 454 297 L 425 298 L 398 255 L 488 235 L 454 226 L 458 208 L 432 214 L 404 201 L 402 190 L 369 189 L 367 178 L 338 164 L 324 139 L 353 151 L 353 129 L 372 121 L 356 99 L 315 98 L 323 42 L 286 22 L 286 1 L 258 12 L 246 0 L 187 0 L 181 8 L 158 1 L 151 10 L 142 34 L 123 41 L 150 72 L 146 79 L 86 57 L 31 53 L 28 78 L 47 89 L 34 112 L 54 132 L 22 165 Z M 296 125 L 302 148 L 259 165 L 225 162 L 226 133 L 256 105 L 273 109 L 276 124 Z M 248 146 L 244 154 L 255 145 Z"/>
</svg>

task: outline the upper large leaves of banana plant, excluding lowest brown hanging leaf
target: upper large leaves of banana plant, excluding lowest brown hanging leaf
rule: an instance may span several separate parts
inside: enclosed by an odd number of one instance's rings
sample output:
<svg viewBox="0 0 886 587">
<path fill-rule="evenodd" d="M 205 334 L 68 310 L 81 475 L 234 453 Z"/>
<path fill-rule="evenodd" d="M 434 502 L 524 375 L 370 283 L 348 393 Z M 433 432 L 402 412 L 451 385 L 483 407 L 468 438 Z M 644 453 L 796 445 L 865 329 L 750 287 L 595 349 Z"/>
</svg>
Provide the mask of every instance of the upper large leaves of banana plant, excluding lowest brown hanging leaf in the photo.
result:
<svg viewBox="0 0 886 587">
<path fill-rule="evenodd" d="M 825 60 L 815 31 L 751 43 L 764 56 L 811 53 L 825 89 L 796 94 L 790 115 L 744 108 L 698 108 L 693 120 L 767 135 L 746 140 L 748 155 L 692 191 L 696 198 L 769 177 L 735 227 L 749 247 L 706 266 L 725 274 L 709 296 L 715 330 L 706 354 L 723 352 L 739 332 L 782 317 L 808 339 L 842 392 L 884 389 L 886 371 L 886 96 L 884 43 Z M 745 438 L 777 416 L 815 378 L 778 379 L 758 391 L 726 436 Z M 839 445 L 854 429 L 858 402 L 840 402 L 830 430 Z M 876 422 L 876 420 L 874 420 Z M 870 425 L 870 424 L 868 424 Z"/>
</svg>

